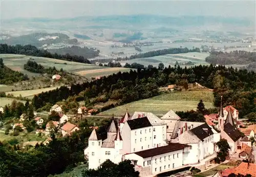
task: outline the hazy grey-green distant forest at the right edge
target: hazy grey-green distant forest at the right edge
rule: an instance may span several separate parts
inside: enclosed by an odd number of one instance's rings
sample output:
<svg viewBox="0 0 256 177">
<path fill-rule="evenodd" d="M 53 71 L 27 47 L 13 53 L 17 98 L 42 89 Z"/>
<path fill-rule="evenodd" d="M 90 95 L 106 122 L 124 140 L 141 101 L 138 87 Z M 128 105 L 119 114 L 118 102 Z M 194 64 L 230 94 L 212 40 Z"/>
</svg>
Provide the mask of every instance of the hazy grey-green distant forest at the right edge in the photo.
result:
<svg viewBox="0 0 256 177">
<path fill-rule="evenodd" d="M 232 52 L 211 52 L 209 57 L 206 57 L 206 62 L 216 65 L 231 65 L 231 64 L 249 64 L 256 62 L 255 52 L 246 52 L 236 50 Z"/>
</svg>

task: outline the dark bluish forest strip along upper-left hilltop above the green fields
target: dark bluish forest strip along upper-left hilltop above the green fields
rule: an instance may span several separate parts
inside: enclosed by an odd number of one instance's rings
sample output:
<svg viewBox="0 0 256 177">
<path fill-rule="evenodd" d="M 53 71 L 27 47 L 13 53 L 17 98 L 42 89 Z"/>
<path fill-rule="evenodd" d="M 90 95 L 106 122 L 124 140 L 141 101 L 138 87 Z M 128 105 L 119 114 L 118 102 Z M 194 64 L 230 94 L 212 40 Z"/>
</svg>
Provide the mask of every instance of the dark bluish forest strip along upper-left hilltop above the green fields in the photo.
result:
<svg viewBox="0 0 256 177">
<path fill-rule="evenodd" d="M 82 56 L 70 55 L 70 54 L 59 55 L 56 53 L 52 54 L 47 50 L 38 49 L 33 45 L 15 45 L 14 46 L 14 45 L 0 44 L 0 54 L 19 54 L 19 55 L 54 58 L 59 60 L 67 60 L 67 61 L 90 64 L 90 61 Z"/>
</svg>

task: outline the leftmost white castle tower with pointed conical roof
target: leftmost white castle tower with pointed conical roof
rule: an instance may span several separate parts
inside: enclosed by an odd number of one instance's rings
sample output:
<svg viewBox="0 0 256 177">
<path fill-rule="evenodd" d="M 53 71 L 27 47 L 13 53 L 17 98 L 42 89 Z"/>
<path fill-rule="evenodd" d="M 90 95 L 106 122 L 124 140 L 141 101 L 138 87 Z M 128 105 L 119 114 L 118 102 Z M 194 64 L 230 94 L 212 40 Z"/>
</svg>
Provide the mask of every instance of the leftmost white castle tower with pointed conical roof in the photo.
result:
<svg viewBox="0 0 256 177">
<path fill-rule="evenodd" d="M 101 145 L 102 140 L 94 128 L 88 139 L 88 148 L 84 149 L 84 155 L 87 155 L 89 159 L 89 169 L 97 169 L 100 165 Z"/>
</svg>

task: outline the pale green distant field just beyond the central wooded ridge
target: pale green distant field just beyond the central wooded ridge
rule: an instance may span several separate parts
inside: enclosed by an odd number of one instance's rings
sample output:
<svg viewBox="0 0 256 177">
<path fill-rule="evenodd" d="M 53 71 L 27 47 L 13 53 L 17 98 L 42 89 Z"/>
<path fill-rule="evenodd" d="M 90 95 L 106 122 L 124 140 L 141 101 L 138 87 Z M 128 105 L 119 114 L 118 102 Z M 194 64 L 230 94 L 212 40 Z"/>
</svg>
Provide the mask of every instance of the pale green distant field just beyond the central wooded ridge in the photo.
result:
<svg viewBox="0 0 256 177">
<path fill-rule="evenodd" d="M 186 54 L 167 54 L 167 55 L 162 55 L 162 56 L 156 56 L 156 57 L 150 57 L 150 58 L 139 58 L 139 59 L 133 59 L 133 60 L 127 60 L 127 61 L 122 61 L 120 62 L 122 65 L 125 63 L 140 63 L 143 64 L 144 66 L 147 65 L 153 65 L 153 66 L 158 66 L 159 63 L 163 63 L 164 66 L 174 66 L 176 61 L 180 62 L 193 62 L 195 65 L 209 65 L 209 63 L 205 62 L 205 58 L 208 57 L 208 53 L 186 53 Z M 186 66 L 186 65 L 180 65 L 180 66 Z M 189 67 L 191 65 L 187 65 Z"/>
</svg>

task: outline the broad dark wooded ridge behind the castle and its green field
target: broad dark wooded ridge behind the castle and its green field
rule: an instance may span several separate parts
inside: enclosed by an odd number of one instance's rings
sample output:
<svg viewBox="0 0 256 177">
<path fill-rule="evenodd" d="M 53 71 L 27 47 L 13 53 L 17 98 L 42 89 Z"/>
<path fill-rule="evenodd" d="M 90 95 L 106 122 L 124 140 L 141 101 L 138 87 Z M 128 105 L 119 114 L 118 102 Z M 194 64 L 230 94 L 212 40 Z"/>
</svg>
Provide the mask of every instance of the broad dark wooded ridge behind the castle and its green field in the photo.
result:
<svg viewBox="0 0 256 177">
<path fill-rule="evenodd" d="M 159 94 L 159 87 L 169 84 L 185 86 L 188 83 L 198 82 L 201 85 L 214 89 L 214 104 L 220 105 L 223 96 L 224 106 L 232 105 L 239 110 L 240 116 L 256 111 L 256 74 L 253 71 L 234 69 L 225 66 L 214 67 L 194 66 L 181 68 L 180 66 L 163 68 L 145 68 L 137 71 L 119 72 L 102 77 L 98 80 L 83 84 L 72 85 L 71 89 L 62 86 L 56 90 L 42 92 L 34 96 L 32 103 L 38 109 L 47 103 L 55 104 L 69 96 L 77 96 L 90 104 L 95 102 L 115 100 L 115 104 L 102 108 L 113 108 L 136 100 L 153 97 Z"/>
</svg>

